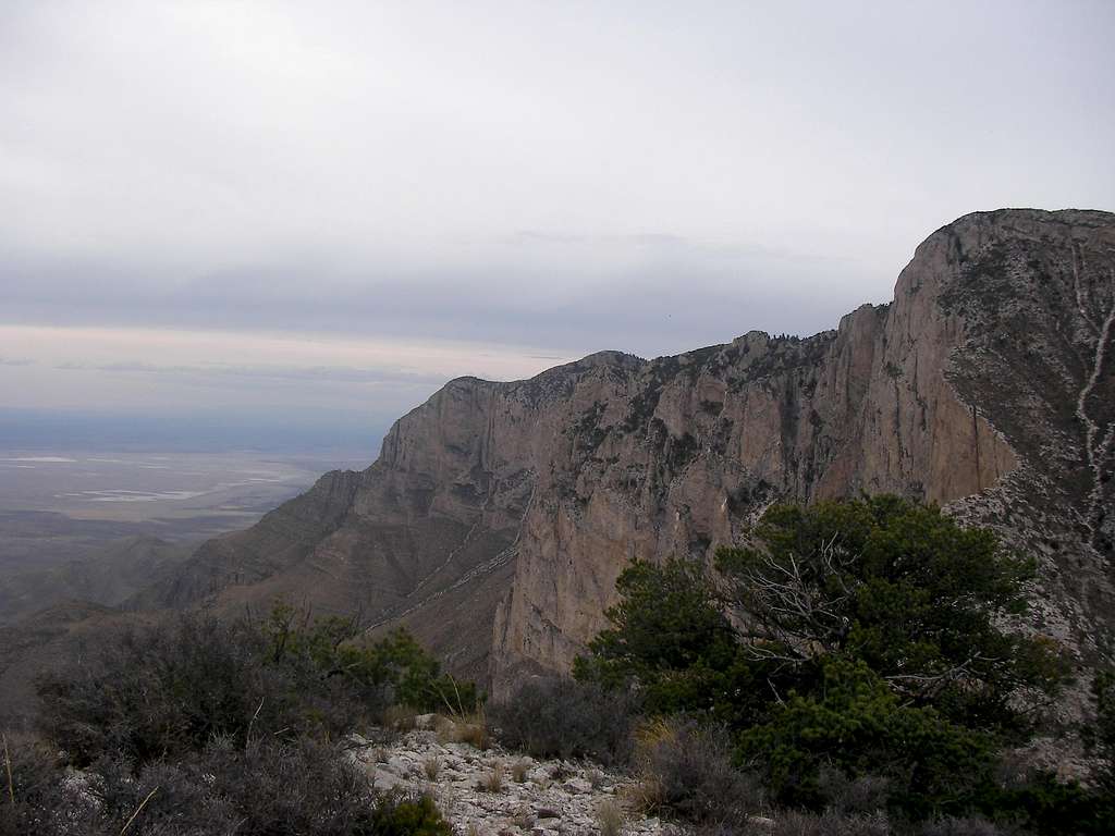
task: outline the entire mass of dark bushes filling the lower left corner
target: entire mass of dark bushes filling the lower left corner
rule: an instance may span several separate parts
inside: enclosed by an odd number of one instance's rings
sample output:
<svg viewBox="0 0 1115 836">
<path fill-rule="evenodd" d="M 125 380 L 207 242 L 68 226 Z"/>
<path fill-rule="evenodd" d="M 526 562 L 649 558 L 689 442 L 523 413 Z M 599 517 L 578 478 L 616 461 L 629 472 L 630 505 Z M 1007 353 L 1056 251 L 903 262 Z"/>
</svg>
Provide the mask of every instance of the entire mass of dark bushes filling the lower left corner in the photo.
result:
<svg viewBox="0 0 1115 836">
<path fill-rule="evenodd" d="M 113 636 L 37 682 L 38 730 L 62 757 L 18 747 L 0 836 L 449 836 L 428 798 L 376 794 L 336 741 L 399 696 L 475 692 L 407 634 L 358 632 L 279 606 Z"/>
</svg>

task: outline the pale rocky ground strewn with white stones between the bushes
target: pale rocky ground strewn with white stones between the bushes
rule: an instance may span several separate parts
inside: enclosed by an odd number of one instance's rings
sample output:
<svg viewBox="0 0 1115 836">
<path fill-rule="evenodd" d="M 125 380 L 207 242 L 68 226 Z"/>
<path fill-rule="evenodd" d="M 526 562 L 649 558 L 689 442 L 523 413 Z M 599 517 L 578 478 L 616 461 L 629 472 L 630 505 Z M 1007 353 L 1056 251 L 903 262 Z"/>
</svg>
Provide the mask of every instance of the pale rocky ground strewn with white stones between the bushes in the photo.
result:
<svg viewBox="0 0 1115 836">
<path fill-rule="evenodd" d="M 496 745 L 453 742 L 452 728 L 419 728 L 387 742 L 353 736 L 351 757 L 381 789 L 429 793 L 454 829 L 467 836 L 658 836 L 676 826 L 637 811 L 638 781 L 592 764 L 537 760 Z M 426 727 L 426 728 L 421 728 Z"/>
</svg>

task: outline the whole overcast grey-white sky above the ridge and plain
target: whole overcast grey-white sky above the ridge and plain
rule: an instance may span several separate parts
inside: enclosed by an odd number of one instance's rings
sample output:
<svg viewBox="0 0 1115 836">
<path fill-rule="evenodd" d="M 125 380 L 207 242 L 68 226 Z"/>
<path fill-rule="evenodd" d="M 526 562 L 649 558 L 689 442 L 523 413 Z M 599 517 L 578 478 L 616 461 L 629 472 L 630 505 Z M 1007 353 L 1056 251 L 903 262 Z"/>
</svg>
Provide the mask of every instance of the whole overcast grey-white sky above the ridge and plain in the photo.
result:
<svg viewBox="0 0 1115 836">
<path fill-rule="evenodd" d="M 0 410 L 371 437 L 833 328 L 962 214 L 1115 210 L 1112 43 L 1109 0 L 2 0 Z"/>
</svg>

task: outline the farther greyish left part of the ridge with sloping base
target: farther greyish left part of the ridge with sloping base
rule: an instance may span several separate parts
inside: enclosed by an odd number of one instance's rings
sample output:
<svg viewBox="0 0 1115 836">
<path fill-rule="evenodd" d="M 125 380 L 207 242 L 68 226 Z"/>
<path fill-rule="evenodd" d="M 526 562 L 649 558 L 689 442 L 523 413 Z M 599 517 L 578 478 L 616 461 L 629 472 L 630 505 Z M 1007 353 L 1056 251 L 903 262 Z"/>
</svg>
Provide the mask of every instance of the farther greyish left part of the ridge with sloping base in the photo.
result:
<svg viewBox="0 0 1115 836">
<path fill-rule="evenodd" d="M 367 470 L 327 474 L 252 528 L 205 543 L 130 605 L 237 612 L 282 597 L 360 613 L 369 630 L 405 625 L 452 670 L 484 679 L 536 463 L 563 409 L 608 397 L 601 369 L 640 362 L 601 354 L 527 381 L 454 380 L 396 422 Z"/>
</svg>

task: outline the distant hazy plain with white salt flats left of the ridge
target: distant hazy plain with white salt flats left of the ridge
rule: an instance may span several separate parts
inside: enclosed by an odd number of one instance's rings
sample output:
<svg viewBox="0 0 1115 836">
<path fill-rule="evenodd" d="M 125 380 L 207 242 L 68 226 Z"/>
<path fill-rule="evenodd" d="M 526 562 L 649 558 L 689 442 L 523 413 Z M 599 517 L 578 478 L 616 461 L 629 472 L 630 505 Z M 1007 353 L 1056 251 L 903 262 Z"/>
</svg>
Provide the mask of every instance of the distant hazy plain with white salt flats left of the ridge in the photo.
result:
<svg viewBox="0 0 1115 836">
<path fill-rule="evenodd" d="M 125 537 L 190 545 L 244 528 L 353 458 L 0 447 L 0 574 L 81 561 Z"/>
</svg>

